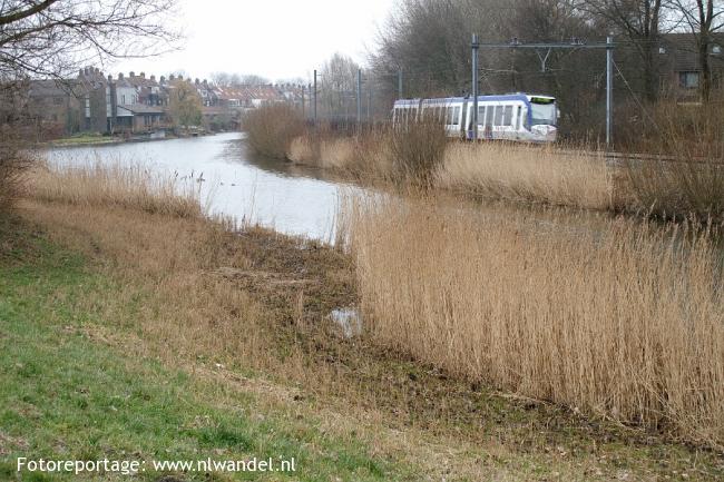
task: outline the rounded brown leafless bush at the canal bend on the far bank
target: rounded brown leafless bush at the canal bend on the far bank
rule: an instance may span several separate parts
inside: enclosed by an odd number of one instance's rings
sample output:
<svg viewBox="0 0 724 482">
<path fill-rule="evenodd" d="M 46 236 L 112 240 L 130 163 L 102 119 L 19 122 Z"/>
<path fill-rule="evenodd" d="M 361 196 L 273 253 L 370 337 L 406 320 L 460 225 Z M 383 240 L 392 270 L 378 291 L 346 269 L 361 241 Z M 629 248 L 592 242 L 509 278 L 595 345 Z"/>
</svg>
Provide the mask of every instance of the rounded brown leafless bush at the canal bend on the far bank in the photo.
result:
<svg viewBox="0 0 724 482">
<path fill-rule="evenodd" d="M 292 140 L 304 131 L 304 119 L 292 106 L 272 104 L 248 112 L 242 128 L 256 153 L 286 159 Z"/>
</svg>

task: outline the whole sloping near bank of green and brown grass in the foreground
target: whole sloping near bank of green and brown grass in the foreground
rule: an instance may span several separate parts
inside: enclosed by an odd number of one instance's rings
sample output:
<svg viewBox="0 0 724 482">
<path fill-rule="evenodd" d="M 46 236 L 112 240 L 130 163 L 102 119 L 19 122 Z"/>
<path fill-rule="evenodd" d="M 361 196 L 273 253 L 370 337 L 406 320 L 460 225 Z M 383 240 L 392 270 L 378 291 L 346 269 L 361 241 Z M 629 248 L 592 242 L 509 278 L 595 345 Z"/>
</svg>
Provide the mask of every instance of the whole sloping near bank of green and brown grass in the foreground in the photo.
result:
<svg viewBox="0 0 724 482">
<path fill-rule="evenodd" d="M 358 294 L 339 252 L 231 234 L 170 185 L 149 198 L 143 171 L 77 175 L 36 174 L 1 230 L 10 476 L 26 454 L 267 453 L 296 456 L 295 480 L 722 476 L 716 452 L 380 348 L 376 317 L 372 336 L 343 340 L 326 314 Z M 146 187 L 129 191 L 129 179 Z"/>
</svg>

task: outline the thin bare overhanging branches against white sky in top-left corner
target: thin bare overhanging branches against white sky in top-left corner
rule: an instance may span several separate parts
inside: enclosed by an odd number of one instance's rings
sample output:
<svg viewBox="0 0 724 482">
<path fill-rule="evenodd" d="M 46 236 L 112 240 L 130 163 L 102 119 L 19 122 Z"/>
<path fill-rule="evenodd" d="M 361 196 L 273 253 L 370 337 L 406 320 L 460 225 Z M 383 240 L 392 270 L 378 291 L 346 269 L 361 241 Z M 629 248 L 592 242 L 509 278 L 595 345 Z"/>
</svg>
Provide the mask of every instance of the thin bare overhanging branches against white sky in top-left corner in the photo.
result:
<svg viewBox="0 0 724 482">
<path fill-rule="evenodd" d="M 173 0 L 4 0 L 0 76 L 62 77 L 81 65 L 157 55 L 180 36 Z"/>
</svg>

